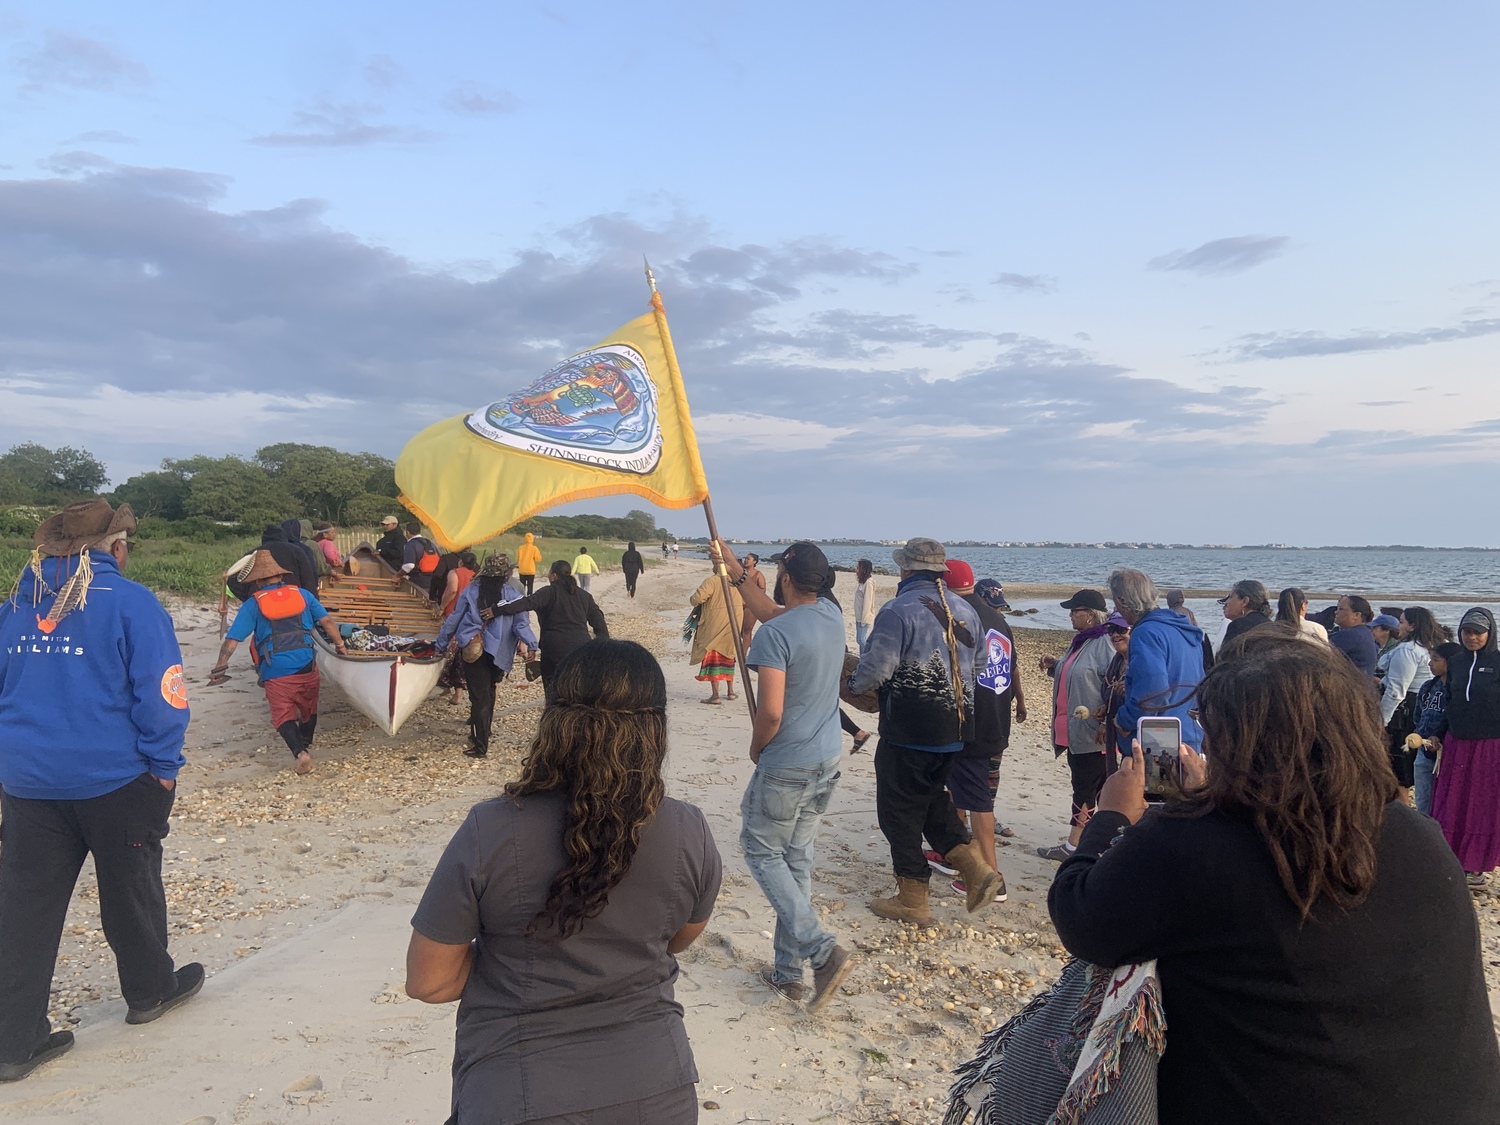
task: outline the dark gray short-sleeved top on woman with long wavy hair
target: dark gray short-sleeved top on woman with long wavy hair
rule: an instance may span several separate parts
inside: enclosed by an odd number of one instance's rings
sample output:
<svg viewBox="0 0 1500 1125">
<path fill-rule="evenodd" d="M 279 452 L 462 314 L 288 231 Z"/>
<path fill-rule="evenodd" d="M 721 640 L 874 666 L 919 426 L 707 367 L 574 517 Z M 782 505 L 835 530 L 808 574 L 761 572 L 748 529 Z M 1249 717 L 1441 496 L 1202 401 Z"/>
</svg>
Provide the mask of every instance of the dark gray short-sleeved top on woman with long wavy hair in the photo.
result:
<svg viewBox="0 0 1500 1125">
<path fill-rule="evenodd" d="M 586 1113 L 698 1082 L 666 945 L 718 897 L 708 822 L 663 798 L 604 910 L 566 940 L 528 938 L 567 861 L 566 813 L 561 794 L 474 806 L 411 920 L 444 945 L 478 940 L 453 1052 L 465 1124 Z"/>
</svg>

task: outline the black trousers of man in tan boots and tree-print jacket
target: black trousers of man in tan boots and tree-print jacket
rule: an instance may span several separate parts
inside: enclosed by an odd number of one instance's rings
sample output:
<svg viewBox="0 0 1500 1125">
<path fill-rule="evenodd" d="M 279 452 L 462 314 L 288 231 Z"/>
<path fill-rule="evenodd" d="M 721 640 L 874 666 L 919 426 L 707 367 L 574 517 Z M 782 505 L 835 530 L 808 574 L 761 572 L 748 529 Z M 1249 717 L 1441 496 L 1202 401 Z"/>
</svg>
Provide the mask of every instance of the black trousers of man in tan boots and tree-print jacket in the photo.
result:
<svg viewBox="0 0 1500 1125">
<path fill-rule="evenodd" d="M 884 738 L 874 747 L 874 814 L 891 844 L 891 867 L 902 879 L 932 878 L 922 856 L 924 836 L 944 855 L 969 843 L 969 830 L 948 796 L 956 758 L 891 746 Z"/>
</svg>

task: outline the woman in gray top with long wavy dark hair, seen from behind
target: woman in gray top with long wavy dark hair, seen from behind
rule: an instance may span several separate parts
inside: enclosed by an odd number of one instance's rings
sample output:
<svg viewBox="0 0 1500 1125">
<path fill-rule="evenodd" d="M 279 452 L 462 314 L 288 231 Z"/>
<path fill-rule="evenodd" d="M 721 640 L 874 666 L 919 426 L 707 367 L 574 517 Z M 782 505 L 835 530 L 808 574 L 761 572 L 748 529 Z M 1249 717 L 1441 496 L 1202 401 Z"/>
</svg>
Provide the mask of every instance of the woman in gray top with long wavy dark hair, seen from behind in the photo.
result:
<svg viewBox="0 0 1500 1125">
<path fill-rule="evenodd" d="M 406 994 L 460 1000 L 448 1125 L 698 1120 L 672 996 L 722 862 L 666 796 L 666 681 L 633 640 L 554 675 L 520 777 L 477 804 L 412 918 Z"/>
</svg>

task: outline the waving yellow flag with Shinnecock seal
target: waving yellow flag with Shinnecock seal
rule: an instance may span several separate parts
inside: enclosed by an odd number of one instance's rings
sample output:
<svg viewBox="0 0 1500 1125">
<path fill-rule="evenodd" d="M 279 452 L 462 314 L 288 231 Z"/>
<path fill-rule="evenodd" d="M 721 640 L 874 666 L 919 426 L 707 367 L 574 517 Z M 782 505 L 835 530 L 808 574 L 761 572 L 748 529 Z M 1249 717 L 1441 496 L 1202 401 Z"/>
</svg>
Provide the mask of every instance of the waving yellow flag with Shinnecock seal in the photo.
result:
<svg viewBox="0 0 1500 1125">
<path fill-rule="evenodd" d="M 662 297 L 530 387 L 428 426 L 400 452 L 396 484 L 448 550 L 570 500 L 702 504 L 708 480 Z"/>
</svg>

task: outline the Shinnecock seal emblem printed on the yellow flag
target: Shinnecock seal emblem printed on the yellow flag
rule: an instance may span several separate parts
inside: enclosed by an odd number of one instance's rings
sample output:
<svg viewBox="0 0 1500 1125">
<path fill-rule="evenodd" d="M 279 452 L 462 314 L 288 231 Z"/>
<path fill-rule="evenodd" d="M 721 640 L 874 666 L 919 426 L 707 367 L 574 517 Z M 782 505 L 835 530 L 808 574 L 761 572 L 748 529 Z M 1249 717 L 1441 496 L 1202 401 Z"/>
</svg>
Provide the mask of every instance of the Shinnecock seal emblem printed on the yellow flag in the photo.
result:
<svg viewBox="0 0 1500 1125">
<path fill-rule="evenodd" d="M 624 344 L 570 356 L 464 424 L 501 446 L 616 472 L 651 472 L 662 459 L 656 384 Z"/>
</svg>

